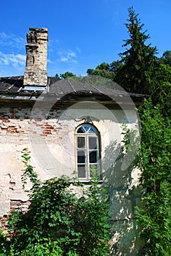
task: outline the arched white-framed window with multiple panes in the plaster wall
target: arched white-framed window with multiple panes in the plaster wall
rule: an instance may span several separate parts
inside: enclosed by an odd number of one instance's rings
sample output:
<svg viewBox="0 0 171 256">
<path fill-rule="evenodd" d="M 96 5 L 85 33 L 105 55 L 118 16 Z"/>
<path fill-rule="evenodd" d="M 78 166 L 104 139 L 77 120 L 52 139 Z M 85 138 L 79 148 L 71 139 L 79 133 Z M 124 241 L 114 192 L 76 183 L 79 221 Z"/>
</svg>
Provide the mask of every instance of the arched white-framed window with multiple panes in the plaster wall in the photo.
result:
<svg viewBox="0 0 171 256">
<path fill-rule="evenodd" d="M 91 124 L 82 124 L 77 127 L 75 137 L 78 178 L 99 177 L 99 132 Z"/>
</svg>

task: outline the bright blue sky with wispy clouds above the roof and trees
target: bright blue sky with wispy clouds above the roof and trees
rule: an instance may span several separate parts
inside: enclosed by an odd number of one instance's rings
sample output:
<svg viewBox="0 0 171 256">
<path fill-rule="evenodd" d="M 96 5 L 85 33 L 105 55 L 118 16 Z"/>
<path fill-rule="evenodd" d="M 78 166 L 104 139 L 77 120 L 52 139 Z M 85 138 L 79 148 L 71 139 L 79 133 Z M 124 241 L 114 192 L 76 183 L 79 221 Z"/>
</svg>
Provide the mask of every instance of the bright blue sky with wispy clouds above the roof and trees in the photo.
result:
<svg viewBox="0 0 171 256">
<path fill-rule="evenodd" d="M 171 0 L 5 0 L 0 3 L 0 76 L 23 75 L 29 27 L 47 28 L 47 74 L 86 75 L 119 59 L 128 8 L 139 13 L 159 57 L 171 50 Z"/>
</svg>

